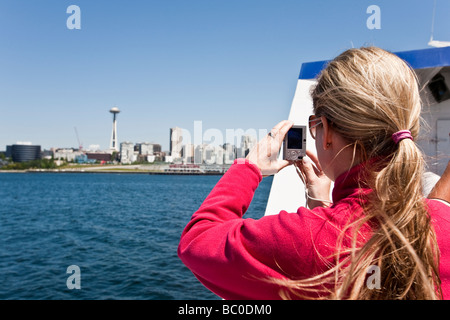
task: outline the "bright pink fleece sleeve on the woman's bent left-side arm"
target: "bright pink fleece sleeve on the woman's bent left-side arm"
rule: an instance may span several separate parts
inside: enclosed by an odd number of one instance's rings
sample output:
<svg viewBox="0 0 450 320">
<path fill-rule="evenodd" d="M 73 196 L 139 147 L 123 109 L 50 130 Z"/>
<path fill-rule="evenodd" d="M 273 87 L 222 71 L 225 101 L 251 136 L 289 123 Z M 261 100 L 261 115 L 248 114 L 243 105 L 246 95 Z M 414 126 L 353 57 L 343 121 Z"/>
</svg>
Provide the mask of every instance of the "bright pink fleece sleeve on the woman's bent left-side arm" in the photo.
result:
<svg viewBox="0 0 450 320">
<path fill-rule="evenodd" d="M 261 179 L 255 165 L 235 162 L 181 235 L 180 259 L 225 299 L 280 299 L 281 288 L 271 279 L 311 272 L 302 266 L 314 250 L 311 230 L 296 227 L 301 215 L 283 211 L 258 220 L 242 218 Z M 323 226 L 323 219 L 318 222 L 316 227 Z"/>
</svg>

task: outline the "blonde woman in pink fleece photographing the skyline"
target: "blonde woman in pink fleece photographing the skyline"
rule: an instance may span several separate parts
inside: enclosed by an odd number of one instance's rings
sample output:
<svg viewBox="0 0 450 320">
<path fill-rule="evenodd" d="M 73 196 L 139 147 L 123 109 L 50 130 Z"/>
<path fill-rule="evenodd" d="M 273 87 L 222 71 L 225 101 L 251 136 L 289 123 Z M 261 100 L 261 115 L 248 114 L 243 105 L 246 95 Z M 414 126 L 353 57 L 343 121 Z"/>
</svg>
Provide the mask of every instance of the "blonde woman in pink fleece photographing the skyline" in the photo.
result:
<svg viewBox="0 0 450 320">
<path fill-rule="evenodd" d="M 292 126 L 283 121 L 194 213 L 181 260 L 225 299 L 450 298 L 450 207 L 422 194 L 414 72 L 382 49 L 351 49 L 312 98 L 317 156 L 294 164 L 309 209 L 242 218 L 262 177 L 292 164 L 277 160 Z"/>
</svg>

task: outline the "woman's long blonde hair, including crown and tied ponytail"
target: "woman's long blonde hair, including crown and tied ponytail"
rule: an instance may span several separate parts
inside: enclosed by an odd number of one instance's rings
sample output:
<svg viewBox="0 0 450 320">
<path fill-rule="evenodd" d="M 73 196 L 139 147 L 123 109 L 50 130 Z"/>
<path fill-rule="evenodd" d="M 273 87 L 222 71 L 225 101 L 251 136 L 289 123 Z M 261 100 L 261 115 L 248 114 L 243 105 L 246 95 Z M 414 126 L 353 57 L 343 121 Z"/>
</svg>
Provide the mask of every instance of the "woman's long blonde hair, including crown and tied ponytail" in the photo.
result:
<svg viewBox="0 0 450 320">
<path fill-rule="evenodd" d="M 334 267 L 310 279 L 280 280 L 287 289 L 283 295 L 441 298 L 439 249 L 421 191 L 423 155 L 413 140 L 396 144 L 391 138 L 400 130 L 411 131 L 415 138 L 419 134 L 421 101 L 414 71 L 396 55 L 366 47 L 340 54 L 317 80 L 312 91 L 315 115 L 327 118 L 361 162 L 374 163 L 365 172 L 373 191 L 364 202 L 364 214 L 342 230 Z M 358 231 L 367 224 L 372 232 L 362 242 Z M 354 230 L 352 245 L 344 249 L 348 230 Z M 380 289 L 366 285 L 367 270 L 374 265 L 381 271 Z"/>
</svg>

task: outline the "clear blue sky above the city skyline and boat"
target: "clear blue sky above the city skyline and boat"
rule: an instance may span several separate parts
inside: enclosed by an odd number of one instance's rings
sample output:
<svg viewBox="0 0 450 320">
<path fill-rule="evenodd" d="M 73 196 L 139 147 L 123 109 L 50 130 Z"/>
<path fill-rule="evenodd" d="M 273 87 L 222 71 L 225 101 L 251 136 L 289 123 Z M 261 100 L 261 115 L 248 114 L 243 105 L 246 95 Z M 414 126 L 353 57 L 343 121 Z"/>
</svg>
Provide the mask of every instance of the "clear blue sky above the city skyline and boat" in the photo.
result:
<svg viewBox="0 0 450 320">
<path fill-rule="evenodd" d="M 81 29 L 69 30 L 69 5 Z M 270 129 L 287 118 L 301 64 L 345 49 L 427 48 L 434 0 L 1 0 L 0 150 L 167 150 L 169 128 Z M 367 7 L 381 10 L 369 30 Z M 436 40 L 450 41 L 450 1 L 437 0 Z"/>
</svg>

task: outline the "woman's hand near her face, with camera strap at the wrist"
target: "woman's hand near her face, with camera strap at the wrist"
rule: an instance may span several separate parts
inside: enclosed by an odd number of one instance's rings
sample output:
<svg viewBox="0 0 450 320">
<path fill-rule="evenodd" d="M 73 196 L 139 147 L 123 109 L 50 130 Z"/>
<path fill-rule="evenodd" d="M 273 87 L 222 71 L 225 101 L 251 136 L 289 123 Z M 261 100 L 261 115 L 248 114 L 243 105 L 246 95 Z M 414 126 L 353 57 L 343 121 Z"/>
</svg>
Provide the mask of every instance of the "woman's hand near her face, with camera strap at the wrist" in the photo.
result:
<svg viewBox="0 0 450 320">
<path fill-rule="evenodd" d="M 302 161 L 297 161 L 295 165 L 300 169 L 297 173 L 303 175 L 302 180 L 305 182 L 307 190 L 307 204 L 310 209 L 315 207 L 329 207 L 332 203 L 330 199 L 331 180 L 328 178 L 320 167 L 317 156 L 311 151 L 307 150 L 306 154 L 312 160 L 303 158 Z"/>
</svg>

